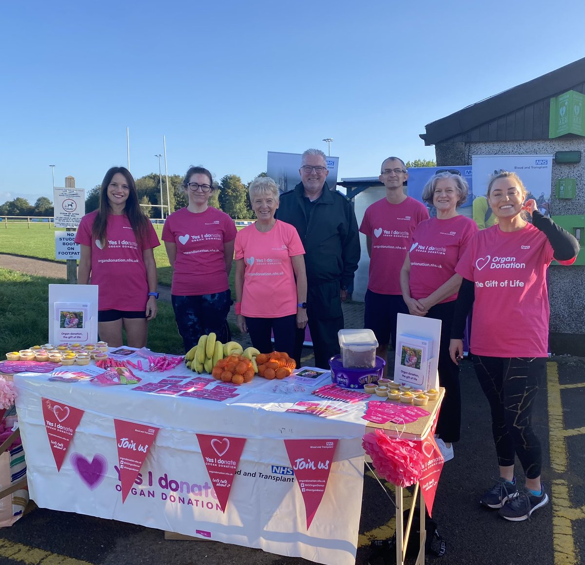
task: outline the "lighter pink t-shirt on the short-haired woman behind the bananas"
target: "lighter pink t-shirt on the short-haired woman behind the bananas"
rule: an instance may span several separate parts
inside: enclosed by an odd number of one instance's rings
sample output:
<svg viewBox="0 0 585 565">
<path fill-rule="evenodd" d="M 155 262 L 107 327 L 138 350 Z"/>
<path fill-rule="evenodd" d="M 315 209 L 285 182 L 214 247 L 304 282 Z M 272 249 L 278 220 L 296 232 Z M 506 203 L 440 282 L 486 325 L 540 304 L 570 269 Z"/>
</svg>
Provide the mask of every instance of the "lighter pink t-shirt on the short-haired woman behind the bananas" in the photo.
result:
<svg viewBox="0 0 585 565">
<path fill-rule="evenodd" d="M 236 259 L 244 259 L 242 314 L 280 318 L 297 313 L 297 283 L 291 257 L 304 255 L 297 230 L 284 221 L 260 233 L 254 225 L 236 235 Z"/>
</svg>

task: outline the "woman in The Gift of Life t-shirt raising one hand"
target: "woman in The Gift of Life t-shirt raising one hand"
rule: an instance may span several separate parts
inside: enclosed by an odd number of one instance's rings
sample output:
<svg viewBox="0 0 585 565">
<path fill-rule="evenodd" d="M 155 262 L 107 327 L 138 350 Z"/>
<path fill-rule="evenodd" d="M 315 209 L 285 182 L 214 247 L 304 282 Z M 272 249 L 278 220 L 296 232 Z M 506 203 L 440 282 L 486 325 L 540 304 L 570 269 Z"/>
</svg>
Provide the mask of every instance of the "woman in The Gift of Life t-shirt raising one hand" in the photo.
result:
<svg viewBox="0 0 585 565">
<path fill-rule="evenodd" d="M 541 483 L 541 445 L 532 429 L 532 410 L 548 358 L 546 269 L 553 259 L 572 264 L 579 242 L 543 216 L 534 199 L 525 202 L 526 189 L 513 172 L 491 178 L 487 200 L 498 223 L 476 234 L 457 264 L 463 282 L 450 353 L 454 363 L 462 358 L 460 337 L 473 304 L 470 350 L 490 404 L 500 466 L 500 479 L 480 503 L 500 508 L 502 518 L 518 522 L 548 502 Z M 516 456 L 526 477 L 521 490 L 514 476 Z"/>
</svg>

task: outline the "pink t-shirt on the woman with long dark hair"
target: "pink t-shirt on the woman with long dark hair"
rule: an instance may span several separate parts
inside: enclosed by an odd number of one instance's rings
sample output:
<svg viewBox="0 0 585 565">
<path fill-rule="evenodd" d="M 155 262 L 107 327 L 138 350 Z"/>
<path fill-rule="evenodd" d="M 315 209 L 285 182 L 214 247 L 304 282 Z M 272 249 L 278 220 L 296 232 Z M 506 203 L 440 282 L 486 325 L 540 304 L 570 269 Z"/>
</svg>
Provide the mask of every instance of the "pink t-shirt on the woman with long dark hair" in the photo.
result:
<svg viewBox="0 0 585 565">
<path fill-rule="evenodd" d="M 146 310 L 148 281 L 142 258 L 144 249 L 160 245 L 149 222 L 146 238 L 139 247 L 126 216 L 108 214 L 106 247 L 91 235 L 97 210 L 82 217 L 75 242 L 91 248 L 91 284 L 98 285 L 99 310 Z"/>
</svg>

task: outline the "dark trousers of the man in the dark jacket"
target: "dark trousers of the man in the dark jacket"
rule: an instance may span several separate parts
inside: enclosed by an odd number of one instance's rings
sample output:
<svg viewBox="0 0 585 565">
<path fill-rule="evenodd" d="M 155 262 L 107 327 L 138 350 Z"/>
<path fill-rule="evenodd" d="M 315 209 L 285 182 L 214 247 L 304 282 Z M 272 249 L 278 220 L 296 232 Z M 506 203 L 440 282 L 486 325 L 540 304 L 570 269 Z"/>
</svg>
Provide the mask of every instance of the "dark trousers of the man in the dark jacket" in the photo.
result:
<svg viewBox="0 0 585 565">
<path fill-rule="evenodd" d="M 343 329 L 343 310 L 341 309 L 340 286 L 338 280 L 309 284 L 307 289 L 307 318 L 313 340 L 315 366 L 329 369 L 329 359 L 339 353 L 337 332 Z M 295 335 L 294 359 L 301 366 L 302 342 L 305 330 Z"/>
</svg>

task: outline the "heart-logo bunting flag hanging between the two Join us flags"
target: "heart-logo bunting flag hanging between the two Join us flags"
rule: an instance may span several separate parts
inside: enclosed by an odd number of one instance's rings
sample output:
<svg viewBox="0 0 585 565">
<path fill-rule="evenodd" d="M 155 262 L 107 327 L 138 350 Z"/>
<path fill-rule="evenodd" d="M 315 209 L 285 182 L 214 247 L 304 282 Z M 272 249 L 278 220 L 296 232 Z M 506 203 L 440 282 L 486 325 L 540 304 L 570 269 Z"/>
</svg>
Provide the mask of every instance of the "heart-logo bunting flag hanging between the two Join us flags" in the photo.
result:
<svg viewBox="0 0 585 565">
<path fill-rule="evenodd" d="M 246 438 L 197 434 L 197 439 L 209 480 L 225 513 L 229 491 L 232 490 L 233 477 L 238 470 Z"/>
</svg>

